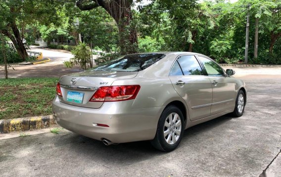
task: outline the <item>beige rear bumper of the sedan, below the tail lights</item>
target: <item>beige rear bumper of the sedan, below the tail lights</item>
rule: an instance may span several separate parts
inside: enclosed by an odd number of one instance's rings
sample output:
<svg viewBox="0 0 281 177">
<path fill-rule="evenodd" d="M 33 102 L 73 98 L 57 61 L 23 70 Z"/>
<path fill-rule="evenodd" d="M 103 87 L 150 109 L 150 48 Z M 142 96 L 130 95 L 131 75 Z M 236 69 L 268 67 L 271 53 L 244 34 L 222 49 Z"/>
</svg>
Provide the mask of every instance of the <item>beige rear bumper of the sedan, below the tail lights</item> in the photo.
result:
<svg viewBox="0 0 281 177">
<path fill-rule="evenodd" d="M 106 102 L 99 109 L 93 109 L 61 103 L 56 96 L 52 110 L 59 125 L 93 139 L 106 138 L 113 143 L 153 139 L 164 107 L 133 109 L 133 102 Z M 109 127 L 94 126 L 93 123 Z"/>
</svg>

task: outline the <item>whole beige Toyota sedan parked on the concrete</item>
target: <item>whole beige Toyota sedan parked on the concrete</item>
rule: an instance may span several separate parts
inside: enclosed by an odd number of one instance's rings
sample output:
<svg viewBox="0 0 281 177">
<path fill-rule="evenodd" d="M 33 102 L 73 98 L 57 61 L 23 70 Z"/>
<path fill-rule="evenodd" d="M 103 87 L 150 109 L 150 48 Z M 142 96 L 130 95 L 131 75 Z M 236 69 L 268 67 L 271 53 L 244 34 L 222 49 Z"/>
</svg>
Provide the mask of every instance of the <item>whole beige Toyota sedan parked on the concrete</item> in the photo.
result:
<svg viewBox="0 0 281 177">
<path fill-rule="evenodd" d="M 52 102 L 62 127 L 104 144 L 151 140 L 172 151 L 184 130 L 243 114 L 245 83 L 196 53 L 133 54 L 62 76 Z"/>
</svg>

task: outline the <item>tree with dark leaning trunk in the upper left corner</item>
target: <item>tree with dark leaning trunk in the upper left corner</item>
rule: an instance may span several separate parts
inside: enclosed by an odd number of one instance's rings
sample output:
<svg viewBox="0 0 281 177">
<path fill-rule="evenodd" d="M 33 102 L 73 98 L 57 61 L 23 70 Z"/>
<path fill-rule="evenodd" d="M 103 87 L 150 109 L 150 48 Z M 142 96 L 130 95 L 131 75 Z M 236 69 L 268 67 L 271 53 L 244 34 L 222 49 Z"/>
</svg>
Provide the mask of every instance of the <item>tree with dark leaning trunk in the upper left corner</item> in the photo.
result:
<svg viewBox="0 0 281 177">
<path fill-rule="evenodd" d="M 1 0 L 0 15 L 3 20 L 1 26 L 5 26 L 1 33 L 8 37 L 18 55 L 25 60 L 28 57 L 25 46 L 22 43 L 24 28 L 27 24 L 39 21 L 42 24 L 48 24 L 50 21 L 58 23 L 59 8 L 62 7 L 63 1 L 34 1 L 34 0 Z M 21 25 L 22 34 L 19 27 Z"/>
</svg>

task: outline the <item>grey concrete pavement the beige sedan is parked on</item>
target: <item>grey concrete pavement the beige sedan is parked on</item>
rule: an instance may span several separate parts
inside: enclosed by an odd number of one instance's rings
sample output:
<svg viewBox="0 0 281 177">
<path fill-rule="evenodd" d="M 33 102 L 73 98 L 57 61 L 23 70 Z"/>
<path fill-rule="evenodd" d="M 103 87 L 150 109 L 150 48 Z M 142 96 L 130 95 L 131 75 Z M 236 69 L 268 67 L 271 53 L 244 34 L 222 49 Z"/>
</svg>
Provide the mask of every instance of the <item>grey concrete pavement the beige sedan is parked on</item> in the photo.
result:
<svg viewBox="0 0 281 177">
<path fill-rule="evenodd" d="M 67 130 L 0 140 L 0 176 L 281 176 L 281 79 L 244 77 L 248 103 L 185 131 L 173 152 L 148 141 L 105 146 Z M 273 161 L 273 162 L 272 162 Z"/>
</svg>

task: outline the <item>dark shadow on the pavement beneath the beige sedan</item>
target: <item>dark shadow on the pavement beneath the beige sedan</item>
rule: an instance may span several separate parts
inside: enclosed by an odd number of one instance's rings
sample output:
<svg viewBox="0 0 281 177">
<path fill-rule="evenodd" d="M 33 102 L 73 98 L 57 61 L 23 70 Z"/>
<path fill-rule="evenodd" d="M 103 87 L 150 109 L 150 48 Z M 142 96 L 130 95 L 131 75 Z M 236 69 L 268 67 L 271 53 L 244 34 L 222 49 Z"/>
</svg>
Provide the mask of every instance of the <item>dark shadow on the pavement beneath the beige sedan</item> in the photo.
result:
<svg viewBox="0 0 281 177">
<path fill-rule="evenodd" d="M 185 131 L 181 144 L 187 144 L 189 138 L 195 135 L 204 134 L 212 128 L 219 126 L 226 121 L 229 121 L 232 117 L 226 115 L 220 118 L 216 118 L 193 127 L 188 128 Z M 121 143 L 117 145 L 106 146 L 101 141 L 94 140 L 76 133 L 67 133 L 63 141 L 56 141 L 56 146 L 65 146 L 69 144 L 70 151 L 78 152 L 80 155 L 90 158 L 91 160 L 105 163 L 105 164 L 134 164 L 140 161 L 145 161 L 156 156 L 167 156 L 167 153 L 154 149 L 149 141 L 139 141 L 130 143 Z M 202 139 L 203 140 L 203 139 Z M 179 146 L 169 155 L 182 151 Z"/>
</svg>

